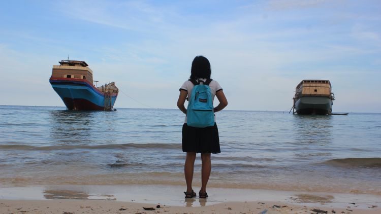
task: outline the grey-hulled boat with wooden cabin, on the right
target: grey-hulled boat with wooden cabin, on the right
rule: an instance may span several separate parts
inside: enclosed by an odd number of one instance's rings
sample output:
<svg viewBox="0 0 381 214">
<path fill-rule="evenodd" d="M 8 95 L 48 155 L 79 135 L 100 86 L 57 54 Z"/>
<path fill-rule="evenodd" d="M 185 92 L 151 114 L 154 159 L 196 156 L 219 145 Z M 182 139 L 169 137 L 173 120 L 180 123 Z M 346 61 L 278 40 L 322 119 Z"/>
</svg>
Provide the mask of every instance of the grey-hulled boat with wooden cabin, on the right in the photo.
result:
<svg viewBox="0 0 381 214">
<path fill-rule="evenodd" d="M 293 113 L 331 115 L 334 99 L 329 80 L 302 80 L 296 86 Z"/>
</svg>

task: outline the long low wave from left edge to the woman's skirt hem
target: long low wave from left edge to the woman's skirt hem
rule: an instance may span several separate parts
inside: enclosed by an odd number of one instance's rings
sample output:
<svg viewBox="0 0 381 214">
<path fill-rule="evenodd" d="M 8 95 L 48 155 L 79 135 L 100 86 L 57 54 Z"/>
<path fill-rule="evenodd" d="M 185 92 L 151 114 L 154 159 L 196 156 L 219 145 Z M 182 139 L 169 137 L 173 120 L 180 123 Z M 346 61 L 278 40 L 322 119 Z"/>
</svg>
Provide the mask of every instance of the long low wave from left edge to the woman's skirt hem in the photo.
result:
<svg viewBox="0 0 381 214">
<path fill-rule="evenodd" d="M 75 149 L 181 149 L 181 144 L 109 144 L 109 145 L 77 145 L 77 146 L 46 146 L 36 147 L 29 145 L 0 145 L 0 150 L 36 150 L 36 151 L 51 151 L 51 150 L 75 150 Z"/>
</svg>

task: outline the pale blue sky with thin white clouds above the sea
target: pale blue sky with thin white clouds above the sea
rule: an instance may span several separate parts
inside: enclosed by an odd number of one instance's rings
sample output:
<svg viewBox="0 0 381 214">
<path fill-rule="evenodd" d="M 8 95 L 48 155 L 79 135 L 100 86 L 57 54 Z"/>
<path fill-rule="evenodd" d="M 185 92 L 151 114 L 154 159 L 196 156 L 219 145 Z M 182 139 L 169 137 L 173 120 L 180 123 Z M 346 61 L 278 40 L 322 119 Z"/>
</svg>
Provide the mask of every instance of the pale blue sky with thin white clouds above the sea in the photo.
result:
<svg viewBox="0 0 381 214">
<path fill-rule="evenodd" d="M 84 60 L 116 108 L 175 109 L 196 55 L 229 110 L 287 111 L 327 79 L 333 112 L 381 112 L 379 1 L 1 1 L 0 104 L 63 106 L 52 65 Z M 145 105 L 142 105 L 144 103 Z"/>
</svg>

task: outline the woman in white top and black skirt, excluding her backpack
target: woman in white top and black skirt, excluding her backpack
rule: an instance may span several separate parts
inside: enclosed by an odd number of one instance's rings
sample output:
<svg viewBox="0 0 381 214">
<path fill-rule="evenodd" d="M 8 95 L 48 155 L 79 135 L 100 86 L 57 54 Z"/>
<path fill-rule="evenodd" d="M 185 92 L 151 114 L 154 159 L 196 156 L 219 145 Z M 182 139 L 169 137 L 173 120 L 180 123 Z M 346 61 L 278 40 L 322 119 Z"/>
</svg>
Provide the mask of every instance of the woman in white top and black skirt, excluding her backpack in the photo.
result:
<svg viewBox="0 0 381 214">
<path fill-rule="evenodd" d="M 194 84 L 192 82 L 209 82 L 211 69 L 210 63 L 204 56 L 196 56 L 192 62 L 192 68 L 190 69 L 190 78 L 185 81 L 180 88 L 179 99 L 177 100 L 177 106 L 186 115 L 186 109 L 184 106 L 186 97 L 191 96 Z M 214 96 L 217 96 L 219 104 L 213 109 L 214 113 L 223 110 L 228 105 L 228 100 L 225 97 L 223 89 L 217 83 L 217 81 L 212 80 L 209 83 L 212 100 Z M 185 122 L 182 126 L 182 151 L 186 152 L 186 159 L 184 164 L 184 174 L 186 182 L 186 192 L 185 198 L 196 197 L 196 193 L 192 189 L 193 180 L 193 169 L 196 160 L 196 154 L 201 153 L 201 190 L 199 192 L 200 198 L 207 198 L 206 184 L 208 183 L 210 171 L 211 171 L 211 161 L 210 154 L 220 153 L 219 149 L 219 138 L 218 138 L 218 128 L 215 123 L 214 126 L 209 126 L 205 128 L 196 128 L 187 126 L 186 116 Z"/>
</svg>

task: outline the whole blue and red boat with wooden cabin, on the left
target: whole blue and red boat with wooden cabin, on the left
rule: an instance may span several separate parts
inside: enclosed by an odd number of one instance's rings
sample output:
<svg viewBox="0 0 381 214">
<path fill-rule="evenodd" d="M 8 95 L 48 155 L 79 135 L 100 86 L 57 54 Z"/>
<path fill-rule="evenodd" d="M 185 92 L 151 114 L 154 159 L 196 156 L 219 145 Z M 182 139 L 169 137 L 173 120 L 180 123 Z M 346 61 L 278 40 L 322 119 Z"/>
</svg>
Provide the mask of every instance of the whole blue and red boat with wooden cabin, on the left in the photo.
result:
<svg viewBox="0 0 381 214">
<path fill-rule="evenodd" d="M 112 110 L 119 92 L 114 82 L 94 86 L 92 70 L 84 61 L 61 60 L 59 64 L 53 65 L 49 82 L 68 110 Z"/>
</svg>

